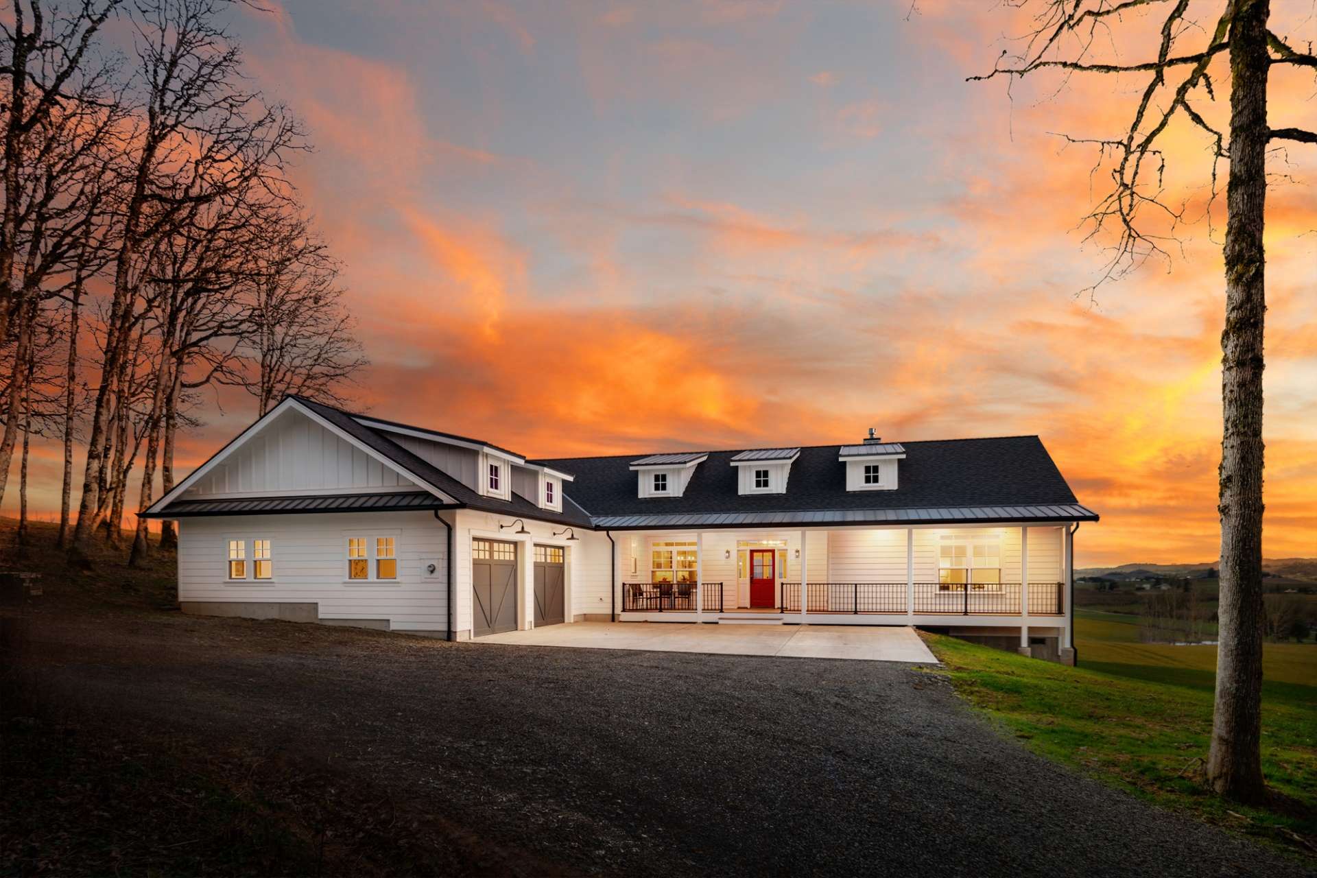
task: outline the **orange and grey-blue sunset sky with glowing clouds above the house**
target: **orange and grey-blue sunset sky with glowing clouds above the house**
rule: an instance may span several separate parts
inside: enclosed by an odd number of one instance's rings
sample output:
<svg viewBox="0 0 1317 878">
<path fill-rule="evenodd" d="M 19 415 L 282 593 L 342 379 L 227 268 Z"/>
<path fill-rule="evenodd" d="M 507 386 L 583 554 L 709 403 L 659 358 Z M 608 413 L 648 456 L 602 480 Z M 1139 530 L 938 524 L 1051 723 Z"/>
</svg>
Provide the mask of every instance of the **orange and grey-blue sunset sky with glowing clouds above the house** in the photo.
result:
<svg viewBox="0 0 1317 878">
<path fill-rule="evenodd" d="M 964 82 L 1018 30 L 972 0 L 234 17 L 316 147 L 295 178 L 345 263 L 373 413 L 528 455 L 1036 433 L 1102 516 L 1080 565 L 1213 559 L 1223 226 L 1083 294 L 1094 155 L 1050 132 L 1119 133 L 1143 80 Z M 1312 76 L 1277 80 L 1274 125 L 1310 120 Z M 1201 188 L 1202 142 L 1173 142 L 1169 184 Z M 1317 555 L 1317 149 L 1288 158 L 1267 557 Z M 184 471 L 252 420 L 224 400 Z M 37 453 L 57 508 L 58 449 Z"/>
</svg>

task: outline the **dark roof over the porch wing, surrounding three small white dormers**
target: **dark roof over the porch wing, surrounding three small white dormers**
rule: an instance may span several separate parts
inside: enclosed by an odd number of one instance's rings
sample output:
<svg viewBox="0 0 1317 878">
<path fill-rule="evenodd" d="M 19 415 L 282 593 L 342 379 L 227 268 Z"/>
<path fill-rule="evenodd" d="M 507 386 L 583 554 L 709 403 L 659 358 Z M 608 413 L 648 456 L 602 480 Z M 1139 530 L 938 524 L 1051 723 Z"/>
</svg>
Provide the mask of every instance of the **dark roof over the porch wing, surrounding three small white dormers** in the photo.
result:
<svg viewBox="0 0 1317 878">
<path fill-rule="evenodd" d="M 806 513 L 819 511 L 881 513 L 980 507 L 997 507 L 1000 512 L 992 519 L 1011 520 L 1019 516 L 1004 507 L 1077 504 L 1075 494 L 1036 436 L 902 445 L 906 457 L 898 465 L 897 488 L 893 491 L 847 491 L 846 463 L 838 459 L 839 445 L 802 448 L 792 465 L 785 494 L 738 494 L 736 467 L 731 466 L 731 461 L 740 454 L 739 450 L 710 452 L 709 459 L 695 467 L 680 498 L 636 496 L 636 474 L 630 469 L 636 459 L 635 454 L 547 459 L 544 463 L 576 473 L 577 480 L 570 486 L 570 495 L 598 524 L 603 524 L 599 519 L 605 516 L 614 519 L 740 512 L 782 512 L 786 515 L 781 516 L 781 524 L 792 524 L 805 523 L 810 517 Z M 1087 515 L 1072 512 L 1075 511 L 1065 509 L 1056 517 L 1097 517 L 1088 509 L 1084 509 Z M 853 517 L 871 520 L 864 516 Z M 872 520 L 896 517 L 874 515 Z M 954 515 L 944 517 L 957 519 Z M 901 519 L 906 520 L 909 516 Z"/>
</svg>

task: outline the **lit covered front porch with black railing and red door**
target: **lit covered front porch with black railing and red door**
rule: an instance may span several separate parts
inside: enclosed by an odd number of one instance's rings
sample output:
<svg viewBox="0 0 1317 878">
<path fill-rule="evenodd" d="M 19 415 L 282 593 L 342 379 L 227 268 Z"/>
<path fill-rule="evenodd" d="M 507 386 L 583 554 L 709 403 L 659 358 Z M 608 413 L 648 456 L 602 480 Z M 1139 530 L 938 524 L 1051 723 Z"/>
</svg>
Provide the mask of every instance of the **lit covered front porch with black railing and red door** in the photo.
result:
<svg viewBox="0 0 1317 878">
<path fill-rule="evenodd" d="M 618 619 L 1009 629 L 1069 644 L 1071 530 L 649 530 L 616 545 Z"/>
</svg>

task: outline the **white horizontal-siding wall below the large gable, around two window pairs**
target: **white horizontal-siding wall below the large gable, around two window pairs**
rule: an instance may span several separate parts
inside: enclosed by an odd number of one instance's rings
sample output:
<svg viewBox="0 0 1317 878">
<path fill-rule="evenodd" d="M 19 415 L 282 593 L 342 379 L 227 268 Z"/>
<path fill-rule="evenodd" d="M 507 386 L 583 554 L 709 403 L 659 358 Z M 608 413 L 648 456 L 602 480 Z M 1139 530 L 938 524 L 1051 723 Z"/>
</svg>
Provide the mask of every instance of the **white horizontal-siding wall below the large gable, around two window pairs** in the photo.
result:
<svg viewBox="0 0 1317 878">
<path fill-rule="evenodd" d="M 398 578 L 348 579 L 348 537 L 392 536 Z M 228 579 L 228 541 L 270 540 L 270 582 Z M 392 631 L 448 631 L 448 532 L 429 512 L 352 512 L 184 519 L 179 602 L 315 603 L 321 619 L 386 620 Z M 429 574 L 427 565 L 435 565 Z"/>
</svg>

